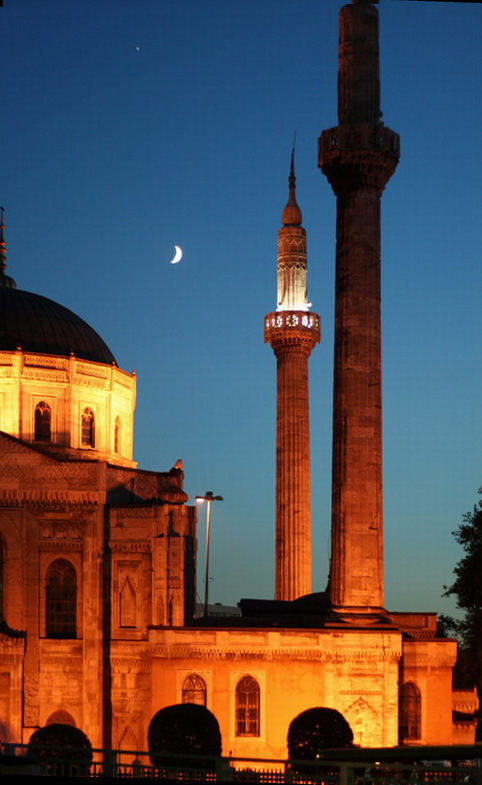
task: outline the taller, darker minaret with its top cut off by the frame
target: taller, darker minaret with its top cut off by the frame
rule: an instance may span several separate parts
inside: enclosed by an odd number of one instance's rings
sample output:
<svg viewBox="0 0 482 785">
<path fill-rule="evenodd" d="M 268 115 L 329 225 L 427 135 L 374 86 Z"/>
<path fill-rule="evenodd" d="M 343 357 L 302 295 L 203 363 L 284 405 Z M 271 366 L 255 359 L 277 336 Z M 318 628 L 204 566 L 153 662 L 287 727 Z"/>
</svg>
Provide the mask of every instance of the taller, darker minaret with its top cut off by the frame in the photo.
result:
<svg viewBox="0 0 482 785">
<path fill-rule="evenodd" d="M 330 598 L 348 616 L 384 602 L 380 197 L 399 137 L 380 118 L 378 12 L 353 0 L 340 10 L 338 126 L 319 140 L 337 197 Z"/>
</svg>

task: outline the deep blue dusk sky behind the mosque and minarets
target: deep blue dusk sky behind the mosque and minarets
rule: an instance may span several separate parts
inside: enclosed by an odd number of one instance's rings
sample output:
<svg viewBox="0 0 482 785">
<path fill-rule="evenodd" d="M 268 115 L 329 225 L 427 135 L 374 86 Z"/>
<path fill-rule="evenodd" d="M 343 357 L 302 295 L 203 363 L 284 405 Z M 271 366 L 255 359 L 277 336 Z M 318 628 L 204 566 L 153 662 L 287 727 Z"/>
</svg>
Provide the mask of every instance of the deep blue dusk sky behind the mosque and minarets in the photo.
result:
<svg viewBox="0 0 482 785">
<path fill-rule="evenodd" d="M 296 130 L 309 297 L 313 588 L 329 553 L 336 0 L 5 0 L 8 273 L 138 375 L 135 457 L 211 489 L 213 601 L 272 597 L 276 232 Z M 382 0 L 386 605 L 445 610 L 480 471 L 480 4 Z M 174 244 L 184 250 L 176 266 Z M 204 512 L 199 515 L 199 574 Z"/>
</svg>

